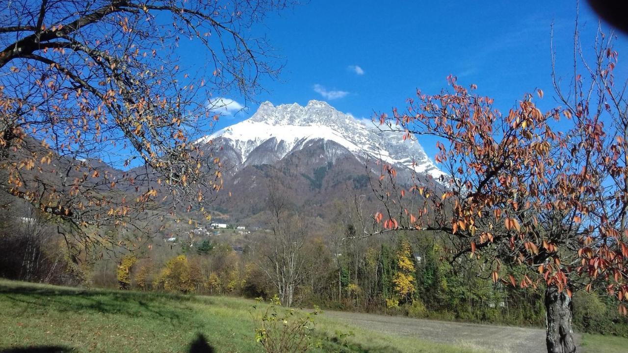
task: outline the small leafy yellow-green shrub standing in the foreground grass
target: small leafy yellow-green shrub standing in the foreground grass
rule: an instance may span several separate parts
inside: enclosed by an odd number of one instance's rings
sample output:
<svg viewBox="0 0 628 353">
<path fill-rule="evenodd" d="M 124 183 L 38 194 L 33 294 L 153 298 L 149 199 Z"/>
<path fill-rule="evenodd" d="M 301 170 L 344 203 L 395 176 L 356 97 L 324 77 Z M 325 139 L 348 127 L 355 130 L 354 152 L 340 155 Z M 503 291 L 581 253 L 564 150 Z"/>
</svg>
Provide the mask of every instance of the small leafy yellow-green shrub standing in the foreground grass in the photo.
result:
<svg viewBox="0 0 628 353">
<path fill-rule="evenodd" d="M 263 298 L 257 298 L 263 303 Z M 305 315 L 295 309 L 281 308 L 278 296 L 270 300 L 270 305 L 263 309 L 254 305 L 251 316 L 256 325 L 255 339 L 268 353 L 305 353 L 321 347 L 321 343 L 313 340 L 315 328 L 314 317 L 320 310 L 315 307 L 313 312 Z"/>
</svg>

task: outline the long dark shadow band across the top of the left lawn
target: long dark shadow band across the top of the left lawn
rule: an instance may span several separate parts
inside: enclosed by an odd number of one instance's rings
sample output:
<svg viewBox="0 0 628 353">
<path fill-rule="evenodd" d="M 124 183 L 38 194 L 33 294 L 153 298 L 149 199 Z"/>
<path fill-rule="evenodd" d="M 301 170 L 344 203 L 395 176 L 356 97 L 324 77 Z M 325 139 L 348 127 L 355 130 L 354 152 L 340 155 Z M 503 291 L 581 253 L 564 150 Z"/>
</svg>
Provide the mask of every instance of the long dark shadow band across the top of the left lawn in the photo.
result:
<svg viewBox="0 0 628 353">
<path fill-rule="evenodd" d="M 1 297 L 58 312 L 126 315 L 170 320 L 177 324 L 187 322 L 194 316 L 192 307 L 185 305 L 185 302 L 192 301 L 190 297 L 165 293 L 60 290 L 48 286 L 0 284 Z"/>
</svg>

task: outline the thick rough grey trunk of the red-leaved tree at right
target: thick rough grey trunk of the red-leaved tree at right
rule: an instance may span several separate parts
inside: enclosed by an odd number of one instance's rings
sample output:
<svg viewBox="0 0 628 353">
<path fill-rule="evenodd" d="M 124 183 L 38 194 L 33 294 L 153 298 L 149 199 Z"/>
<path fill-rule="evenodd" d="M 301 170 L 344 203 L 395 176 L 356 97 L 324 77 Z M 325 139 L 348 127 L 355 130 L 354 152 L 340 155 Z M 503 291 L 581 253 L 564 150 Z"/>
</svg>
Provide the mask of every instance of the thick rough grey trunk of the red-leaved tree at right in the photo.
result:
<svg viewBox="0 0 628 353">
<path fill-rule="evenodd" d="M 548 353 L 575 353 L 571 326 L 571 298 L 551 286 L 545 290 L 546 335 Z"/>
</svg>

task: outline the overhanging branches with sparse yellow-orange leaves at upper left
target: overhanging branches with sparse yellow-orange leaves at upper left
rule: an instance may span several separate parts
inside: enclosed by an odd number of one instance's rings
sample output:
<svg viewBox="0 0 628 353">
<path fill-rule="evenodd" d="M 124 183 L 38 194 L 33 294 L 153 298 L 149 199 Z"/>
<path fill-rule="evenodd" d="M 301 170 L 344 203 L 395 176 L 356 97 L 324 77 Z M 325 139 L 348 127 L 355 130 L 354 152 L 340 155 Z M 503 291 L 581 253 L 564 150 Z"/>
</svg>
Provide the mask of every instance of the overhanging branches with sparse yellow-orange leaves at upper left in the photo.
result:
<svg viewBox="0 0 628 353">
<path fill-rule="evenodd" d="M 217 119 L 212 97 L 248 99 L 276 76 L 268 43 L 248 30 L 284 6 L 0 1 L 1 190 L 85 244 L 111 245 L 103 227 L 144 234 L 164 211 L 208 216 L 220 161 L 190 138 Z M 207 56 L 205 72 L 180 68 L 180 45 Z"/>
</svg>

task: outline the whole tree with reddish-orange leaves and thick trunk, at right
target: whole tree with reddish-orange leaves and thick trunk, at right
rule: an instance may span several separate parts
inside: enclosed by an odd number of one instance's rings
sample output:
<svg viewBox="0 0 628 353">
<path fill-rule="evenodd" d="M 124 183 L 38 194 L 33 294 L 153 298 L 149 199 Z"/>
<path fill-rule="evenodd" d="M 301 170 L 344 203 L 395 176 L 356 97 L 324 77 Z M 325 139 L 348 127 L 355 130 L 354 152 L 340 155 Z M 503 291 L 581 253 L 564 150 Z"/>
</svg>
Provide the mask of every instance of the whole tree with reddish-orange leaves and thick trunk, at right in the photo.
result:
<svg viewBox="0 0 628 353">
<path fill-rule="evenodd" d="M 627 313 L 628 81 L 615 84 L 612 38 L 599 31 L 585 60 L 575 33 L 575 72 L 561 82 L 553 71 L 560 105 L 549 111 L 536 105 L 537 90 L 502 114 L 475 85 L 449 77 L 450 90 L 418 91 L 406 110 L 378 117 L 404 139 L 440 138 L 435 160 L 448 175 L 406 187 L 382 166 L 374 191 L 384 210 L 365 236 L 433 231 L 454 266 L 470 256 L 494 282 L 543 286 L 551 353 L 576 350 L 573 291 L 614 296 Z"/>
</svg>

